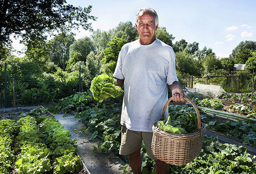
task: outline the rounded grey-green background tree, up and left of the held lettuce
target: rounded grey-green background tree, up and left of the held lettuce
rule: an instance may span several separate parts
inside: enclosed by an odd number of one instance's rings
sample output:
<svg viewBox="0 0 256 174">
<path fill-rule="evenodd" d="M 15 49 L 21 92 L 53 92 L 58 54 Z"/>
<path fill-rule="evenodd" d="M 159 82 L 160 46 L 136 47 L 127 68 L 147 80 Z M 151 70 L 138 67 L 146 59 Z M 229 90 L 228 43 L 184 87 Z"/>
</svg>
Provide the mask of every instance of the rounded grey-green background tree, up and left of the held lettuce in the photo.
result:
<svg viewBox="0 0 256 174">
<path fill-rule="evenodd" d="M 91 51 L 95 51 L 93 41 L 89 37 L 84 37 L 74 41 L 73 44 L 70 45 L 70 58 L 72 58 L 72 56 L 78 52 L 82 55 L 79 61 L 85 62 L 87 55 Z"/>
</svg>

